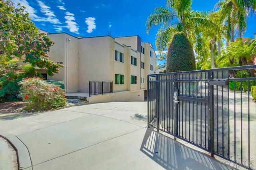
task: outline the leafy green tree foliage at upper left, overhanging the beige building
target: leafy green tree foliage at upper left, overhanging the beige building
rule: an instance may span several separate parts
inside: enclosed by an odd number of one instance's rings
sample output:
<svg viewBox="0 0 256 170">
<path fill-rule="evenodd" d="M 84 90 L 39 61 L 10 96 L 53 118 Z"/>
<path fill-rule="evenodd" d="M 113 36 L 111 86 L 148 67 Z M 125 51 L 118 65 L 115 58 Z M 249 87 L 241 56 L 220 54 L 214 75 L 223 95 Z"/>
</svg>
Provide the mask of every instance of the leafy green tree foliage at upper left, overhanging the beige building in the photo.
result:
<svg viewBox="0 0 256 170">
<path fill-rule="evenodd" d="M 53 42 L 38 32 L 25 12 L 25 7 L 10 0 L 0 0 L 0 57 L 12 59 L 17 57 L 33 67 L 45 68 L 48 75 L 58 73 L 63 65 L 49 59 L 47 51 Z"/>
</svg>

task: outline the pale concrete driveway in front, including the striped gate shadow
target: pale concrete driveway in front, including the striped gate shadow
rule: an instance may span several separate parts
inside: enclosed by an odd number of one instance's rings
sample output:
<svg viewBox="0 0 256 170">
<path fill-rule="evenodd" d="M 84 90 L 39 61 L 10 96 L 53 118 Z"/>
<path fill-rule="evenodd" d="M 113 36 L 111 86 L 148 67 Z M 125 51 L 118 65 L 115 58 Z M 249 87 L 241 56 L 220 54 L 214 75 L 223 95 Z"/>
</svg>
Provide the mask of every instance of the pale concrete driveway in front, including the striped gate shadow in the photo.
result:
<svg viewBox="0 0 256 170">
<path fill-rule="evenodd" d="M 26 170 L 231 169 L 146 128 L 146 109 L 146 102 L 98 103 L 0 117 L 0 134 Z"/>
</svg>

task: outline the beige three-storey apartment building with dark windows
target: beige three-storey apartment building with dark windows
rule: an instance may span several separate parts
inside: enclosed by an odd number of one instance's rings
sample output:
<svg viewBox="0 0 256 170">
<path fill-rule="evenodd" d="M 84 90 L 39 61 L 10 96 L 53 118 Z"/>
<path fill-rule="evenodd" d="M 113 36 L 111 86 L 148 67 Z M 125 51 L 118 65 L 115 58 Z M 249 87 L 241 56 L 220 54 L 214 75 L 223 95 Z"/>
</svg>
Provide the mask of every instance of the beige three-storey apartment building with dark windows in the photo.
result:
<svg viewBox="0 0 256 170">
<path fill-rule="evenodd" d="M 156 54 L 151 43 L 142 42 L 139 36 L 47 35 L 54 41 L 48 52 L 50 59 L 64 65 L 60 73 L 47 75 L 47 79 L 64 82 L 67 93 L 89 92 L 89 81 L 110 81 L 113 100 L 116 95 L 123 101 L 144 100 L 147 75 L 156 71 Z M 46 77 L 45 70 L 39 71 Z"/>
</svg>

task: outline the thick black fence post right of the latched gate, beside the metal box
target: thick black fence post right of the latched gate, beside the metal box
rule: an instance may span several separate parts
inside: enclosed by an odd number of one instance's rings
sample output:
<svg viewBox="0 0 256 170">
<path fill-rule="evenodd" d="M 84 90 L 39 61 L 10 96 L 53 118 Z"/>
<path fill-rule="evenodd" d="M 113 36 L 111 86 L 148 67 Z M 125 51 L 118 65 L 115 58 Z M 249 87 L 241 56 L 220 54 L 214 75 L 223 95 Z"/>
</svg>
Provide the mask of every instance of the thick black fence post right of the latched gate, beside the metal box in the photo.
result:
<svg viewBox="0 0 256 170">
<path fill-rule="evenodd" d="M 208 122 L 209 122 L 209 128 L 208 132 L 210 131 L 210 153 L 211 156 L 214 157 L 214 86 L 209 85 L 210 79 L 213 79 L 213 71 L 208 72 L 208 87 L 209 87 L 209 94 L 208 96 L 210 99 L 208 99 L 210 105 L 209 107 L 209 117 L 208 117 Z"/>
</svg>

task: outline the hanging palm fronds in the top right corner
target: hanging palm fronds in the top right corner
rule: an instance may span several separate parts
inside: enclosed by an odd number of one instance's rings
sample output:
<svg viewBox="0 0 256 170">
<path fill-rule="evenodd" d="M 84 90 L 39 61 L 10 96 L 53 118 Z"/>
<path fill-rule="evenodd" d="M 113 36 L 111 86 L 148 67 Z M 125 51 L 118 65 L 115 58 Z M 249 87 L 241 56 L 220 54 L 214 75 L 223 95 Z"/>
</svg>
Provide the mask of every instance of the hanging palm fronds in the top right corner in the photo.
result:
<svg viewBox="0 0 256 170">
<path fill-rule="evenodd" d="M 227 42 L 234 42 L 235 33 L 242 38 L 246 31 L 247 16 L 256 14 L 255 0 L 220 0 L 216 4 L 220 10 L 220 18 L 226 32 Z"/>
</svg>

